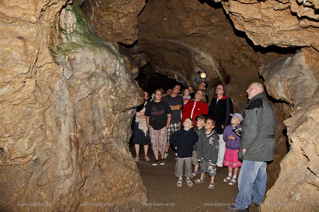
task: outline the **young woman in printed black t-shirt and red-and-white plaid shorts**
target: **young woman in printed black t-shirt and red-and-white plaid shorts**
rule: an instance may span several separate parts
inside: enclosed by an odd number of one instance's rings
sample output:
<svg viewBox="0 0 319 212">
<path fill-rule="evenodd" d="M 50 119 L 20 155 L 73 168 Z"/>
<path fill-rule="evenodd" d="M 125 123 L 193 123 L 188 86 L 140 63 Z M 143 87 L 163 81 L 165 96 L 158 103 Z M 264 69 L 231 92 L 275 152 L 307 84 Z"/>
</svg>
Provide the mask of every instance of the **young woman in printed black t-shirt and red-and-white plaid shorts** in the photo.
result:
<svg viewBox="0 0 319 212">
<path fill-rule="evenodd" d="M 156 166 L 159 163 L 159 152 L 161 154 L 160 165 L 165 164 L 164 153 L 166 149 L 167 128 L 171 122 L 172 110 L 163 101 L 163 92 L 158 89 L 154 91 L 153 101 L 145 105 L 146 124 L 150 130 L 152 150 Z"/>
</svg>

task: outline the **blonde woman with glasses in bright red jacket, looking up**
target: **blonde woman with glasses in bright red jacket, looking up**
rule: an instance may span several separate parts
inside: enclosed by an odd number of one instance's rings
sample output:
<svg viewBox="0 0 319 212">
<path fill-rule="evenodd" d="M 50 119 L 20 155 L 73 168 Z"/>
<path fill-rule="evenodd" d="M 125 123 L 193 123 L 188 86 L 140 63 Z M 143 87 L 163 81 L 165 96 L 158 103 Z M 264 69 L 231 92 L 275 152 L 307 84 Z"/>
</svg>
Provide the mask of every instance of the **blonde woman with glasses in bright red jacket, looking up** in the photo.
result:
<svg viewBox="0 0 319 212">
<path fill-rule="evenodd" d="M 198 89 L 194 98 L 191 101 L 188 101 L 184 106 L 181 123 L 183 124 L 185 119 L 190 117 L 194 120 L 196 126 L 195 116 L 203 114 L 208 114 L 208 106 L 206 103 L 205 92 Z"/>
</svg>

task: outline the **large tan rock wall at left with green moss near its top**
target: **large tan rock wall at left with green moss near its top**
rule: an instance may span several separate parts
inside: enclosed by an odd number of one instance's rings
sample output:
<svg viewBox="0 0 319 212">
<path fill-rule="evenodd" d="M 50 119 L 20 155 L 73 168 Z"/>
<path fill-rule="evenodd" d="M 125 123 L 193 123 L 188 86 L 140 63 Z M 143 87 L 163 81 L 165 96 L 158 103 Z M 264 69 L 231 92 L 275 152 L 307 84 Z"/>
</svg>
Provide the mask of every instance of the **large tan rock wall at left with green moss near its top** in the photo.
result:
<svg viewBox="0 0 319 212">
<path fill-rule="evenodd" d="M 0 211 L 146 202 L 127 145 L 144 93 L 115 46 L 76 1 L 2 1 L 0 12 Z"/>
</svg>

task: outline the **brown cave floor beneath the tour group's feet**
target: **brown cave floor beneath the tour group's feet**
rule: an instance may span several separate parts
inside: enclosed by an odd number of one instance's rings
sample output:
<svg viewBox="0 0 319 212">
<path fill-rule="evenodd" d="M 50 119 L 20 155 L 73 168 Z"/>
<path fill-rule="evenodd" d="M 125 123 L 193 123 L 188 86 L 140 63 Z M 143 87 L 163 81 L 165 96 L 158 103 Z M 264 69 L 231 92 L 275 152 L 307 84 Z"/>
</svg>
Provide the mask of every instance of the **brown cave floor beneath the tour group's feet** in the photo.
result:
<svg viewBox="0 0 319 212">
<path fill-rule="evenodd" d="M 134 157 L 135 149 L 131 143 L 130 151 Z M 209 176 L 206 176 L 206 181 L 203 184 L 194 184 L 193 187 L 188 187 L 186 178 L 183 177 L 183 185 L 181 188 L 178 188 L 176 187 L 178 178 L 174 175 L 174 152 L 171 149 L 169 150 L 169 156 L 165 160 L 165 165 L 158 164 L 157 166 L 152 166 L 155 158 L 151 148 L 148 150 L 148 156 L 151 160 L 145 161 L 144 149 L 143 146 L 141 146 L 140 160 L 136 162 L 136 164 L 143 178 L 143 183 L 150 195 L 150 200 L 147 202 L 150 205 L 143 206 L 138 202 L 129 200 L 116 205 L 115 208 L 110 210 L 111 212 L 225 212 L 227 204 L 233 204 L 235 202 L 238 193 L 237 182 L 234 186 L 223 182 L 223 179 L 228 173 L 227 168 L 223 168 L 215 177 L 215 188 L 212 191 L 206 190 L 210 182 Z M 192 181 L 195 179 L 196 178 L 192 178 Z M 254 206 L 250 206 L 249 211 L 257 212 L 258 209 Z"/>
</svg>

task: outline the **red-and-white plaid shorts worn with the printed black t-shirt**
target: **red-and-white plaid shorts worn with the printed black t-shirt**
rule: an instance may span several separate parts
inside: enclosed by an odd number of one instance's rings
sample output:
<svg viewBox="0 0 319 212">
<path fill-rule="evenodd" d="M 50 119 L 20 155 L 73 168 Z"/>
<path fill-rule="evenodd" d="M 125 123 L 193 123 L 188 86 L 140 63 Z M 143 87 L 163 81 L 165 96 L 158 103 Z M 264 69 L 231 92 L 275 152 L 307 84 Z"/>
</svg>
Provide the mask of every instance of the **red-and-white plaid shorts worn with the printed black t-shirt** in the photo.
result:
<svg viewBox="0 0 319 212">
<path fill-rule="evenodd" d="M 162 128 L 160 130 L 154 130 L 153 128 L 150 129 L 151 135 L 151 144 L 152 150 L 158 150 L 159 152 L 164 152 L 166 149 L 166 138 L 167 138 L 167 129 Z"/>
</svg>

